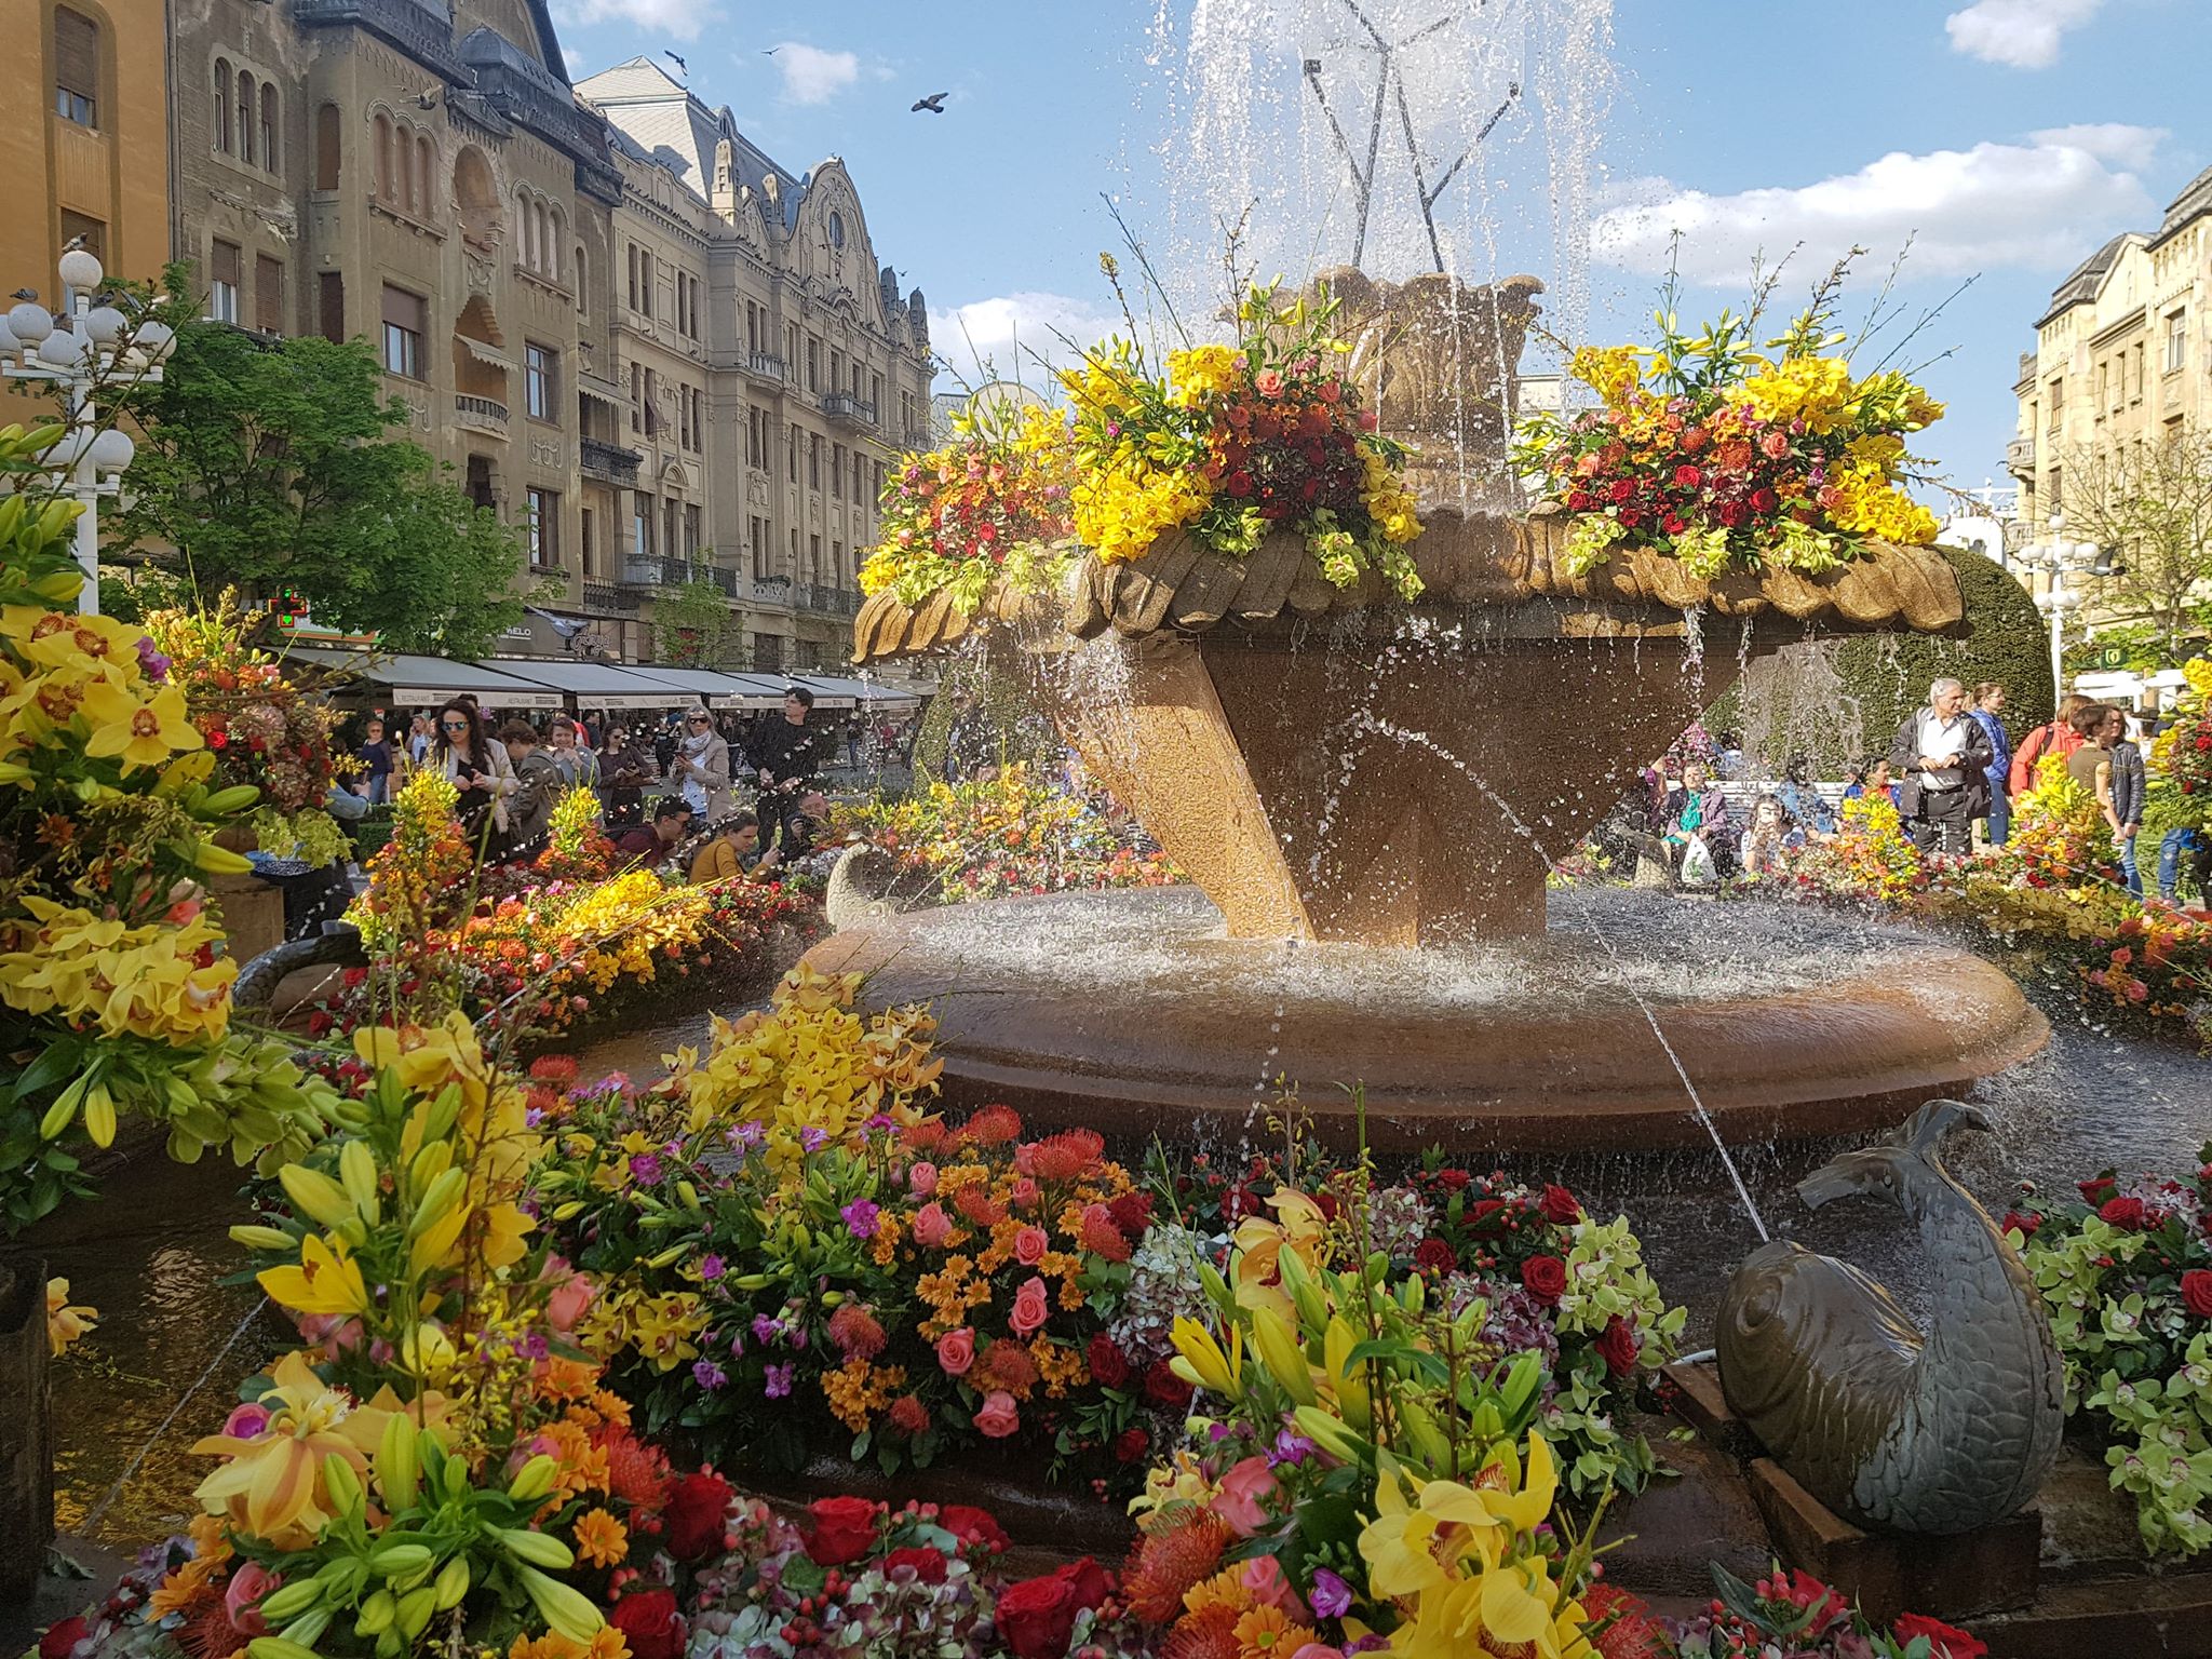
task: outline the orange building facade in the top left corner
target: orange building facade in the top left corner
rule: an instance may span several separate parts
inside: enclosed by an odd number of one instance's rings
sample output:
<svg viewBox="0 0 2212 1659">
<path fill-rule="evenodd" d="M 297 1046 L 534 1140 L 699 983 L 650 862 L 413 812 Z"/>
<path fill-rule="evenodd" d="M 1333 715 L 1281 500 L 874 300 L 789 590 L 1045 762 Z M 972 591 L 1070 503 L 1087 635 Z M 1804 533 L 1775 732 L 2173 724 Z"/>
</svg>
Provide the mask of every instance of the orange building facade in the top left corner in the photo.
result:
<svg viewBox="0 0 2212 1659">
<path fill-rule="evenodd" d="M 62 303 L 55 265 L 82 239 L 113 276 L 153 281 L 168 263 L 168 53 L 164 0 L 35 0 L 9 7 L 15 51 L 0 66 L 0 292 Z M 13 301 L 11 301 L 13 303 Z M 0 425 L 49 400 L 0 389 Z"/>
</svg>

